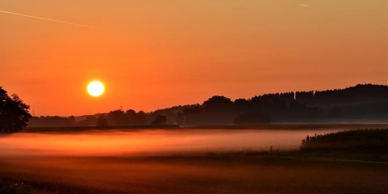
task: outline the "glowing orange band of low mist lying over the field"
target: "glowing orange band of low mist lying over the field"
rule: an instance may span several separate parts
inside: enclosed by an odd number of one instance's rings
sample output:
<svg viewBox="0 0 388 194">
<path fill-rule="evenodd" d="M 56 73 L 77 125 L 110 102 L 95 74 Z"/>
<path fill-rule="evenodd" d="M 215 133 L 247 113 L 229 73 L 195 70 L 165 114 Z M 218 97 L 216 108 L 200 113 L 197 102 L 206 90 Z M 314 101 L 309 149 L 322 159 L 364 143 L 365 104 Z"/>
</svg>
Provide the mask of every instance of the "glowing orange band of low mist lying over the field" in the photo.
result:
<svg viewBox="0 0 388 194">
<path fill-rule="evenodd" d="M 320 133 L 339 129 L 318 130 Z M 0 137 L 0 155 L 171 155 L 210 151 L 290 150 L 313 130 L 134 129 L 14 133 Z"/>
</svg>

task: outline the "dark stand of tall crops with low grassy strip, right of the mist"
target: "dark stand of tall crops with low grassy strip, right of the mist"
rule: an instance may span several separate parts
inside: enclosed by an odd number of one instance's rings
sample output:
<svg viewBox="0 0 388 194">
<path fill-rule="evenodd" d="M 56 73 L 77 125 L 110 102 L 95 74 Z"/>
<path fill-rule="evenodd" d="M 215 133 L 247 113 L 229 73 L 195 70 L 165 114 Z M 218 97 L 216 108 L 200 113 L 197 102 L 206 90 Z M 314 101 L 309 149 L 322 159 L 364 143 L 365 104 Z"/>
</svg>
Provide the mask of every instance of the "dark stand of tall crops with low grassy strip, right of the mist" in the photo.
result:
<svg viewBox="0 0 388 194">
<path fill-rule="evenodd" d="M 209 152 L 213 156 L 277 156 L 307 159 L 388 162 L 388 129 L 357 129 L 315 134 L 298 150 Z"/>
</svg>

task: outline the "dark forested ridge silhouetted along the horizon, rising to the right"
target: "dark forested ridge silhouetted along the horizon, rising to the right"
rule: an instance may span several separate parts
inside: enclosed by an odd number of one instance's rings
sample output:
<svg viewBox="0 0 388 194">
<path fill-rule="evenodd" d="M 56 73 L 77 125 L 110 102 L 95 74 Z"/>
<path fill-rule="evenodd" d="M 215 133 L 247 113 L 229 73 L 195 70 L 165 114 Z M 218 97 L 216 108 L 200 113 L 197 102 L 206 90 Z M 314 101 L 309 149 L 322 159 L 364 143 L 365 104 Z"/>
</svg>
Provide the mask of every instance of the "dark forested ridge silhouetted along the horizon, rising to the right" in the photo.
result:
<svg viewBox="0 0 388 194">
<path fill-rule="evenodd" d="M 33 117 L 28 126 L 196 126 L 327 122 L 388 122 L 388 86 L 358 84 L 345 89 L 265 94 L 234 101 L 224 96 L 213 96 L 202 104 L 179 105 L 151 113 L 130 109 L 80 117 Z"/>
</svg>

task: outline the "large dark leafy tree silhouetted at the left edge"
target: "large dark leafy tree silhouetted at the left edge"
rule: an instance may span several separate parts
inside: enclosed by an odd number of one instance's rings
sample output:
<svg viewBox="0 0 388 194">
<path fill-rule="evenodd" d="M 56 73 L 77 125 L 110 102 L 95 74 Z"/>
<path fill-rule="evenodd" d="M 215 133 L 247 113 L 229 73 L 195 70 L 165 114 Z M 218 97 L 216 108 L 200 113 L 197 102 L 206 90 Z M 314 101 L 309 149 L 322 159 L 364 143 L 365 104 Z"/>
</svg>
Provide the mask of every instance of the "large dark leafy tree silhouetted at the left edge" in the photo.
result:
<svg viewBox="0 0 388 194">
<path fill-rule="evenodd" d="M 27 126 L 32 118 L 30 106 L 24 104 L 16 94 L 8 96 L 0 87 L 0 132 L 17 132 Z"/>
</svg>

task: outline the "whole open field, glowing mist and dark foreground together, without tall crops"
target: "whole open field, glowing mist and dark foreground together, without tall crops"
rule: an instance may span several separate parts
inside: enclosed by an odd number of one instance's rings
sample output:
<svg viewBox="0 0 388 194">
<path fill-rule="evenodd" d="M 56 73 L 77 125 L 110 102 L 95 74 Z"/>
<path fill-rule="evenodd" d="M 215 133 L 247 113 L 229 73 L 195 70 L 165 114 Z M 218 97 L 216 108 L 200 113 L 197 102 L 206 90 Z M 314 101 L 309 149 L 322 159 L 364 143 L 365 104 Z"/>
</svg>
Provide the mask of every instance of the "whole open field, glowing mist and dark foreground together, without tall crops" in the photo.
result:
<svg viewBox="0 0 388 194">
<path fill-rule="evenodd" d="M 347 133 L 331 132 L 383 127 L 76 128 L 9 134 L 0 137 L 0 194 L 381 194 L 388 190 L 386 155 L 297 149 L 307 134 L 342 138 Z"/>
</svg>

